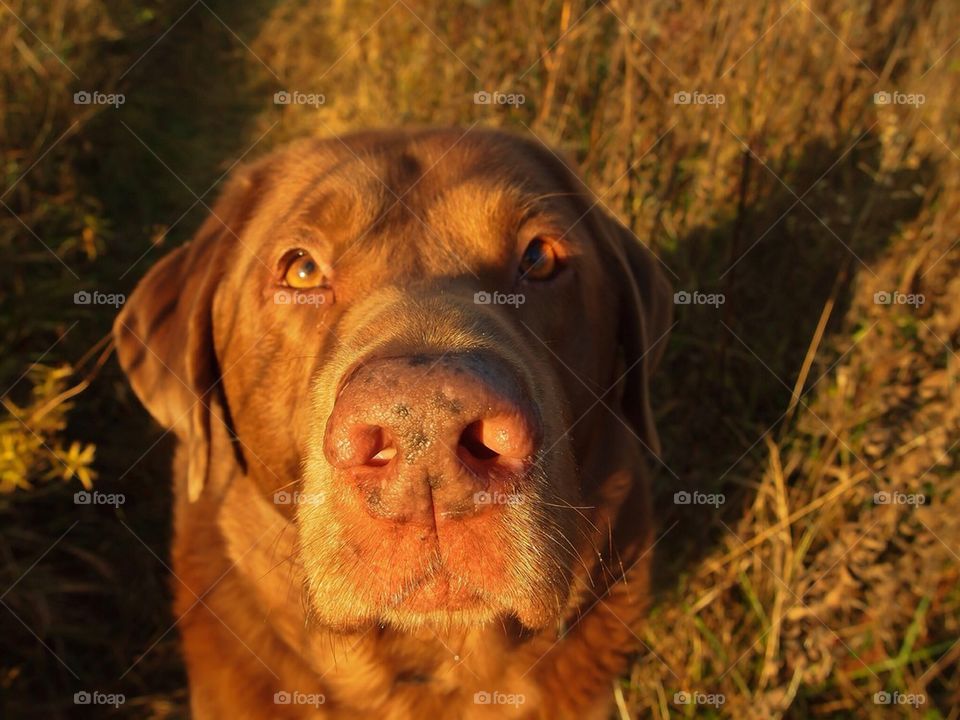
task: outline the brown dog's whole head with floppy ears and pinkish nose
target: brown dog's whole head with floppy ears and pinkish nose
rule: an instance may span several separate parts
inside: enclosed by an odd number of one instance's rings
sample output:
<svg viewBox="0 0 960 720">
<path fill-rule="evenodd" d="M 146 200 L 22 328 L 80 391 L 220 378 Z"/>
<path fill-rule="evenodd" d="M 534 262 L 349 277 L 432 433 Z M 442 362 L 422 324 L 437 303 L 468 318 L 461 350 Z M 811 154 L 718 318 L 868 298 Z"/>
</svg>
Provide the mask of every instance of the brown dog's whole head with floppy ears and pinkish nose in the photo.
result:
<svg viewBox="0 0 960 720">
<path fill-rule="evenodd" d="M 603 480 L 587 456 L 657 448 L 669 305 L 653 257 L 549 149 L 371 132 L 238 172 L 116 338 L 188 446 L 191 498 L 229 461 L 280 499 L 320 622 L 540 627 L 581 562 Z"/>
</svg>

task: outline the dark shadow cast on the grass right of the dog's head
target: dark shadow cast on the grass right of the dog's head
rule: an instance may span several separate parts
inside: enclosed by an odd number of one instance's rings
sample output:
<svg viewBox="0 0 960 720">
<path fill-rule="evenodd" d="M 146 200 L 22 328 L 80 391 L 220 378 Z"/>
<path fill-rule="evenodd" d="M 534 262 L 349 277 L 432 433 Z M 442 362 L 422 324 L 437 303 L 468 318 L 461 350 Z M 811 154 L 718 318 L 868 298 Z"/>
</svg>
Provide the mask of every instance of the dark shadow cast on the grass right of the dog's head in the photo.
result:
<svg viewBox="0 0 960 720">
<path fill-rule="evenodd" d="M 656 376 L 667 469 L 655 483 L 655 509 L 660 532 L 676 522 L 655 559 L 655 586 L 667 602 L 678 577 L 729 534 L 752 502 L 766 461 L 763 437 L 789 428 L 793 388 L 828 300 L 834 307 L 804 394 L 840 358 L 834 341 L 866 329 L 845 319 L 855 286 L 873 279 L 873 261 L 920 211 L 917 188 L 926 187 L 934 168 L 883 174 L 873 135 L 844 156 L 855 140 L 811 142 L 771 169 L 751 156 L 738 216 L 697 228 L 660 253 L 681 278 L 678 290 L 725 299 L 676 306 L 678 325 Z M 694 492 L 725 501 L 697 505 Z"/>
</svg>

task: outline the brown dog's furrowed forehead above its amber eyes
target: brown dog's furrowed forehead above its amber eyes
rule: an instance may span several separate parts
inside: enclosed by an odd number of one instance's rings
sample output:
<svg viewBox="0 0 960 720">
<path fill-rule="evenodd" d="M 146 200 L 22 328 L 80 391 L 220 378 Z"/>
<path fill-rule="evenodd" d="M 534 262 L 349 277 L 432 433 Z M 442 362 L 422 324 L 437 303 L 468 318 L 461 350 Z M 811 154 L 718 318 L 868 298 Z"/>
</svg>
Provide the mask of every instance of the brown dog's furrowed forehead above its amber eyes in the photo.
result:
<svg viewBox="0 0 960 720">
<path fill-rule="evenodd" d="M 576 176 L 551 151 L 499 132 L 365 133 L 321 141 L 295 159 L 278 214 L 345 234 L 470 218 L 511 226 L 582 199 Z"/>
</svg>

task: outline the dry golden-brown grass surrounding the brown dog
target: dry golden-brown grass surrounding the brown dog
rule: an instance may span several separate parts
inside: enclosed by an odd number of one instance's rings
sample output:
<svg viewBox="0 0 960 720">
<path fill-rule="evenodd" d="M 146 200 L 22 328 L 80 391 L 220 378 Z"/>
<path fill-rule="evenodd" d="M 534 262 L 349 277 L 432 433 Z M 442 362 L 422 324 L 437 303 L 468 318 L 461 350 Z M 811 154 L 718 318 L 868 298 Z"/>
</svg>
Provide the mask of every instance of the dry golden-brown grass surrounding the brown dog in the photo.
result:
<svg viewBox="0 0 960 720">
<path fill-rule="evenodd" d="M 78 358 L 109 323 L 105 311 L 57 303 L 80 286 L 129 288 L 159 254 L 121 277 L 151 238 L 169 231 L 172 244 L 196 226 L 202 207 L 174 223 L 195 197 L 154 152 L 199 194 L 247 151 L 304 134 L 475 122 L 535 133 L 574 158 L 604 204 L 658 249 L 678 289 L 726 298 L 718 309 L 678 308 L 658 379 L 659 601 L 644 650 L 614 691 L 621 714 L 958 717 L 954 3 L 208 3 L 236 36 L 197 5 L 149 52 L 189 3 L 9 4 L 83 81 L 0 10 L 6 185 L 37 162 L 3 200 L 82 280 L 0 207 L 0 248 L 12 260 L 2 271 L 13 350 L 4 387 L 74 319 L 85 330 L 45 363 Z M 72 105 L 69 93 L 84 87 L 119 89 L 127 104 L 97 113 Z M 277 107 L 280 89 L 322 93 L 326 104 Z M 475 105 L 481 89 L 526 102 Z M 677 105 L 682 91 L 725 102 Z M 877 105 L 878 91 L 925 102 Z M 36 282 L 45 301 L 31 304 Z M 926 302 L 874 302 L 895 290 Z M 71 417 L 87 424 L 43 433 L 95 442 L 107 487 L 155 437 L 142 424 L 113 432 L 111 415 L 139 412 L 114 399 L 120 387 L 115 373 L 98 380 L 74 398 Z M 144 465 L 137 485 L 115 485 L 136 497 L 125 513 L 71 530 L 4 602 L 85 668 L 79 686 L 119 688 L 131 717 L 177 716 L 172 635 L 117 680 L 172 622 L 157 590 L 165 571 L 118 522 L 162 551 L 164 463 Z M 77 519 L 57 504 L 73 489 L 8 496 L 4 587 Z M 726 502 L 677 506 L 681 489 Z M 877 504 L 877 492 L 920 494 L 925 504 Z M 69 519 L 51 520 L 57 508 Z M 63 558 L 71 553 L 79 565 Z M 96 603 L 83 596 L 92 594 L 119 610 L 126 592 L 145 608 L 121 617 L 129 637 L 116 637 L 116 617 L 65 609 L 89 610 Z M 35 641 L 9 614 L 0 622 L 10 627 L 0 641 L 10 716 L 71 712 L 78 683 L 43 648 L 26 649 Z M 680 705 L 679 691 L 725 703 Z M 926 702 L 877 705 L 880 691 Z"/>
</svg>

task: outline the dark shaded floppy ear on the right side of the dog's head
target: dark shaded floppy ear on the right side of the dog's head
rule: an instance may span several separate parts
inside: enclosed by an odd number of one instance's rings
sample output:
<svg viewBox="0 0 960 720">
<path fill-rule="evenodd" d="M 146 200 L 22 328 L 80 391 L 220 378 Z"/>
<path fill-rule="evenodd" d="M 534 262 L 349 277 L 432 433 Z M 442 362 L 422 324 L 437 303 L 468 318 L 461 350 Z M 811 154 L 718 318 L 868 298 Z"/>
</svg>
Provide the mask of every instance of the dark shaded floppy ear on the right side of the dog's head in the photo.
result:
<svg viewBox="0 0 960 720">
<path fill-rule="evenodd" d="M 673 288 L 660 261 L 620 222 L 599 212 L 601 235 L 619 282 L 617 336 L 623 352 L 622 403 L 627 419 L 647 449 L 660 454 L 650 405 L 650 377 L 667 346 L 673 321 Z"/>
</svg>

